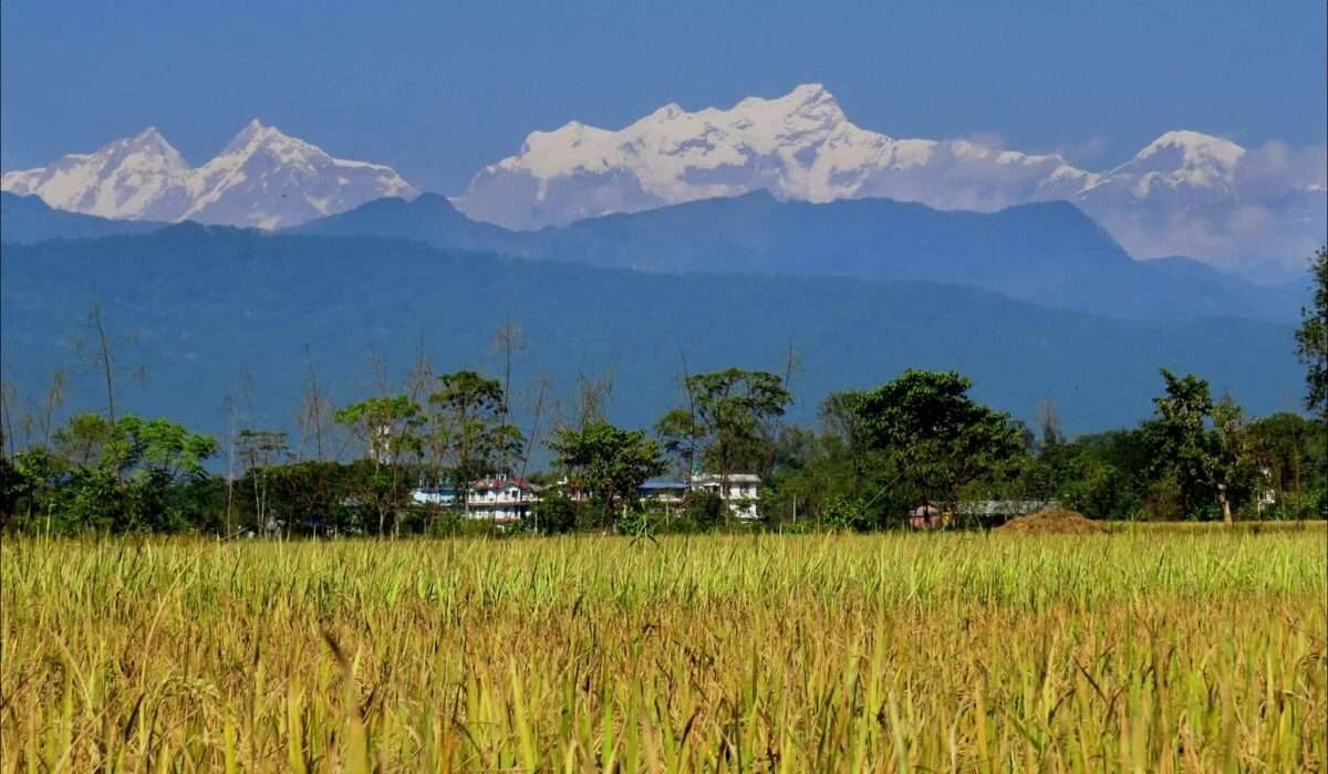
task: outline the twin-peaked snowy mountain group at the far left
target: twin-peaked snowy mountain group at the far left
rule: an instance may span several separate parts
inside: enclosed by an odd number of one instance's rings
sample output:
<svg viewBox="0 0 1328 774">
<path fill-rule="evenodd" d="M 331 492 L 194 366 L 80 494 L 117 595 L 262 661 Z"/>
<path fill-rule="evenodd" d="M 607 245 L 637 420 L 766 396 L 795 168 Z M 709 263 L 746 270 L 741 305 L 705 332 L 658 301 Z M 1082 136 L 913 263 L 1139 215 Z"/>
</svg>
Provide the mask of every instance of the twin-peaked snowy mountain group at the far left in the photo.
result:
<svg viewBox="0 0 1328 774">
<path fill-rule="evenodd" d="M 52 207 L 131 220 L 282 228 L 382 196 L 418 191 L 390 167 L 347 161 L 256 118 L 224 150 L 190 167 L 155 129 L 90 154 L 5 173 L 0 190 Z"/>
</svg>

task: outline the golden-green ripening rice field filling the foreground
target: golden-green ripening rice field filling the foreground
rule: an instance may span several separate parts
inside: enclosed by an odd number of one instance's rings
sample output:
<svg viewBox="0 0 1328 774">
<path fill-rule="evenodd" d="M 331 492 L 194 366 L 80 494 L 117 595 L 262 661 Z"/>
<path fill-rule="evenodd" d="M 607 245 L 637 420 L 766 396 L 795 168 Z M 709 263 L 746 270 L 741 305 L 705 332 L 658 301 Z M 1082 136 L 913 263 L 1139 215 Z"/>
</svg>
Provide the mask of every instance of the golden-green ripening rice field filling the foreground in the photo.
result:
<svg viewBox="0 0 1328 774">
<path fill-rule="evenodd" d="M 0 767 L 1323 771 L 1325 539 L 7 539 Z"/>
</svg>

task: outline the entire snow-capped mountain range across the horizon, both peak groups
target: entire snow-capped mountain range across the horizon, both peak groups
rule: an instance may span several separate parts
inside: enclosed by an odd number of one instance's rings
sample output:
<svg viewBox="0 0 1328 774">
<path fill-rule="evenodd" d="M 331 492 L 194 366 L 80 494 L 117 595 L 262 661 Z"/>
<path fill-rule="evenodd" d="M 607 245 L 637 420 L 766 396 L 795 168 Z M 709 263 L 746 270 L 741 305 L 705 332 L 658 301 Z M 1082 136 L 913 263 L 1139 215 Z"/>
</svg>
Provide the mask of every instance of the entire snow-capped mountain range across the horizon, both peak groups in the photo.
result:
<svg viewBox="0 0 1328 774">
<path fill-rule="evenodd" d="M 620 130 L 534 131 L 454 199 L 509 228 L 769 191 L 825 203 L 890 198 L 991 212 L 1069 200 L 1134 258 L 1187 255 L 1256 281 L 1296 276 L 1328 232 L 1328 150 L 1246 149 L 1166 131 L 1131 159 L 1089 171 L 991 139 L 899 139 L 854 125 L 818 84 L 730 109 L 665 105 Z M 0 190 L 122 219 L 282 228 L 418 189 L 390 167 L 336 159 L 256 119 L 190 167 L 153 129 L 93 154 L 0 177 Z"/>
</svg>

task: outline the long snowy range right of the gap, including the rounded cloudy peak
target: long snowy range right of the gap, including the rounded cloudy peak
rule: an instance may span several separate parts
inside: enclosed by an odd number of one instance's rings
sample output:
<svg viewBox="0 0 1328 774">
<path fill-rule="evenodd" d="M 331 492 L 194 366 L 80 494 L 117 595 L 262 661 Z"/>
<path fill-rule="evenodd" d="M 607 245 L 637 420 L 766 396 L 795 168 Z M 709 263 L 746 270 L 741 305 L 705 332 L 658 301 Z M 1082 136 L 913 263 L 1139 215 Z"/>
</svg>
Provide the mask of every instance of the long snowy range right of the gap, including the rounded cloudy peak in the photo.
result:
<svg viewBox="0 0 1328 774">
<path fill-rule="evenodd" d="M 1169 131 L 1094 173 L 1057 154 L 861 129 L 810 84 L 728 110 L 667 105 L 620 130 L 571 122 L 531 133 L 454 203 L 479 220 L 539 228 L 762 189 L 784 199 L 884 196 L 977 211 L 1065 199 L 1135 258 L 1181 254 L 1234 266 L 1303 260 L 1323 242 L 1325 159 L 1323 146 L 1246 150 Z"/>
</svg>

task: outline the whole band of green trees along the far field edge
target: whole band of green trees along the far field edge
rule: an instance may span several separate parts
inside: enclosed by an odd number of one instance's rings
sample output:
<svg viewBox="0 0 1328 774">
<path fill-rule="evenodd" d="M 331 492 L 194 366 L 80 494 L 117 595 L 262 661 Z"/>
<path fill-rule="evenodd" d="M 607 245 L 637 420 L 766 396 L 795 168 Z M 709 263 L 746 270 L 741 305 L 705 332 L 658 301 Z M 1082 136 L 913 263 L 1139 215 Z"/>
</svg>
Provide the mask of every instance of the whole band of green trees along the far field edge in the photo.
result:
<svg viewBox="0 0 1328 774">
<path fill-rule="evenodd" d="M 181 532 L 234 536 L 401 535 L 493 531 L 469 518 L 469 482 L 529 478 L 542 487 L 514 530 L 649 534 L 714 528 L 900 526 L 912 512 L 954 514 L 968 503 L 1058 501 L 1097 519 L 1303 519 L 1328 515 L 1328 251 L 1315 264 L 1313 308 L 1296 347 L 1307 365 L 1308 409 L 1252 418 L 1194 374 L 1161 370 L 1153 416 L 1133 429 L 1068 439 L 1056 408 L 1035 426 L 975 401 L 954 372 L 907 370 L 872 390 L 829 396 L 819 426 L 785 421 L 794 358 L 784 374 L 726 369 L 687 374 L 680 405 L 653 427 L 608 422 L 611 380 L 580 385 L 571 417 L 546 412 L 540 384 L 526 429 L 509 405 L 511 370 L 434 374 L 421 362 L 405 389 L 332 409 L 316 386 L 301 427 L 311 457 L 286 433 L 231 429 L 219 443 L 170 420 L 116 414 L 113 357 L 100 312 L 89 317 L 106 384 L 105 413 L 53 426 L 16 447 L 8 393 L 0 422 L 4 530 L 48 534 Z M 507 362 L 519 339 L 499 331 Z M 382 380 L 380 380 L 381 382 Z M 29 422 L 31 425 L 31 422 Z M 544 427 L 548 425 L 550 427 Z M 348 438 L 348 453 L 327 442 Z M 531 473 L 543 447 L 547 470 Z M 224 471 L 219 471 L 224 462 Z M 640 498 L 672 474 L 758 474 L 756 520 L 738 520 L 716 495 L 680 507 Z M 421 504 L 416 487 L 453 487 L 459 502 Z"/>
</svg>

